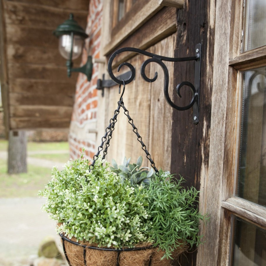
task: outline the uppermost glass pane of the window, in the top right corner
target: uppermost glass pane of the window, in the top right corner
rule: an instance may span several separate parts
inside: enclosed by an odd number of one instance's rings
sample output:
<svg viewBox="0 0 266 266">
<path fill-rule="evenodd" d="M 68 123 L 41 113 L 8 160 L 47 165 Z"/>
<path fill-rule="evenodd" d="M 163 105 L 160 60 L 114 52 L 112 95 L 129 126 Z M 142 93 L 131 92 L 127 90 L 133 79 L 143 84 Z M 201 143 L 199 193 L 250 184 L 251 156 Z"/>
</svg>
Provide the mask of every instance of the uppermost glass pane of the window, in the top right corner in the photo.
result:
<svg viewBox="0 0 266 266">
<path fill-rule="evenodd" d="M 246 0 L 243 51 L 266 45 L 266 1 Z"/>
</svg>

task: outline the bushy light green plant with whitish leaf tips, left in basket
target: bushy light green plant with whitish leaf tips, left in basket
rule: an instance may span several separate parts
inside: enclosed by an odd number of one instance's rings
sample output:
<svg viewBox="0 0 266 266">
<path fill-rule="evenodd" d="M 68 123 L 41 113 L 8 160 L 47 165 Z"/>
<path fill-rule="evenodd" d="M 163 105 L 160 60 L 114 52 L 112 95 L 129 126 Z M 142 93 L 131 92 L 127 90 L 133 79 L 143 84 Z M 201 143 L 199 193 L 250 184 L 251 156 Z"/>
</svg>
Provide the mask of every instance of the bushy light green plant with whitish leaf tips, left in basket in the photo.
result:
<svg viewBox="0 0 266 266">
<path fill-rule="evenodd" d="M 147 214 L 147 191 L 108 170 L 99 158 L 89 172 L 88 160 L 69 161 L 39 195 L 47 197 L 43 207 L 62 225 L 58 232 L 98 246 L 133 247 L 148 240 L 151 226 Z"/>
</svg>

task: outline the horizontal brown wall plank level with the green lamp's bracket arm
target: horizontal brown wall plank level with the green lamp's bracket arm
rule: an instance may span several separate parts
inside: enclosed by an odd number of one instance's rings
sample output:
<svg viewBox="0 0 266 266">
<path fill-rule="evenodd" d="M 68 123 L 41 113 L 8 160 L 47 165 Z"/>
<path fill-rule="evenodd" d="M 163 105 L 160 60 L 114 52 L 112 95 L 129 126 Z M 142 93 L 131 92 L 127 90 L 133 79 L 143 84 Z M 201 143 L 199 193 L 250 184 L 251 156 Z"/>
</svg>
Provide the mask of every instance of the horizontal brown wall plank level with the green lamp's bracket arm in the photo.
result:
<svg viewBox="0 0 266 266">
<path fill-rule="evenodd" d="M 78 73 L 72 73 L 68 78 L 66 67 L 54 67 L 45 65 L 22 65 L 10 63 L 8 65 L 9 78 L 47 79 L 52 81 L 76 80 Z"/>
</svg>

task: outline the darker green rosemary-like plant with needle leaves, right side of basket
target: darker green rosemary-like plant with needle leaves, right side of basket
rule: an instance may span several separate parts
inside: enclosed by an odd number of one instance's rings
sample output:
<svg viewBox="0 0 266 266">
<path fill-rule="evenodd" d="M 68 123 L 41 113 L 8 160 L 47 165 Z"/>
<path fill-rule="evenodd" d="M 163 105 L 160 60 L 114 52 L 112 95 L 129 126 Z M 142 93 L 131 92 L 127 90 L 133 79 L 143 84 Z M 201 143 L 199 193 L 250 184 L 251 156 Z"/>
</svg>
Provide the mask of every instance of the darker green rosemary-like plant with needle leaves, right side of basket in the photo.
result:
<svg viewBox="0 0 266 266">
<path fill-rule="evenodd" d="M 173 250 L 180 245 L 192 247 L 201 243 L 199 223 L 206 217 L 195 207 L 198 191 L 193 187 L 186 190 L 182 186 L 184 182 L 182 177 L 176 181 L 173 175 L 160 170 L 147 190 L 147 210 L 152 222 L 148 234 L 154 245 L 165 251 L 166 258 L 171 258 Z"/>
</svg>

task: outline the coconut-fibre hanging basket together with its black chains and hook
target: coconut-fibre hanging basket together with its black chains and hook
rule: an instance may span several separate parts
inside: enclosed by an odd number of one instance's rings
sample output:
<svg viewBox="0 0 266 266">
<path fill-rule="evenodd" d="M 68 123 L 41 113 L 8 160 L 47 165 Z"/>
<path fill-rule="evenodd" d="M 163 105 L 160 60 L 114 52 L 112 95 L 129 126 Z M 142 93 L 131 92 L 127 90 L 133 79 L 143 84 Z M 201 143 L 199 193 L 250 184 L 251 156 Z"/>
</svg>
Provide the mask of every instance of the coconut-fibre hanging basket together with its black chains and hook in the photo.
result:
<svg viewBox="0 0 266 266">
<path fill-rule="evenodd" d="M 146 158 L 148 158 L 148 160 L 150 161 L 150 164 L 155 170 L 155 173 L 158 173 L 158 170 L 155 167 L 155 163 L 153 162 L 150 153 L 146 149 L 146 146 L 143 143 L 142 138 L 133 123 L 133 119 L 129 116 L 128 110 L 124 106 L 122 98 L 124 90 L 125 83 L 122 95 L 120 97 L 120 100 L 118 101 L 118 108 L 114 111 L 114 116 L 110 119 L 110 124 L 106 128 L 106 133 L 102 138 L 101 145 L 98 147 L 98 152 L 93 157 L 93 162 L 90 165 L 90 171 L 93 170 L 94 164 L 98 159 L 101 151 L 103 151 L 102 158 L 105 158 L 107 149 L 110 145 L 110 140 L 112 138 L 114 126 L 117 121 L 117 115 L 119 114 L 120 108 L 122 107 L 124 114 L 128 118 L 129 124 L 133 128 L 133 132 L 137 135 L 138 141 L 140 142 L 142 149 L 146 154 Z M 105 149 L 103 148 L 104 143 Z M 96 244 L 92 246 L 88 242 L 77 242 L 74 238 L 68 239 L 63 234 L 59 235 L 61 236 L 66 260 L 68 261 L 68 264 L 70 266 L 170 266 L 173 262 L 173 260 L 166 258 L 161 260 L 164 252 L 162 250 L 159 250 L 158 247 L 150 245 L 150 243 L 139 243 L 135 245 L 134 248 L 115 249 L 98 247 Z M 171 256 L 175 259 L 185 250 L 186 246 L 181 245 L 172 252 Z"/>
</svg>

